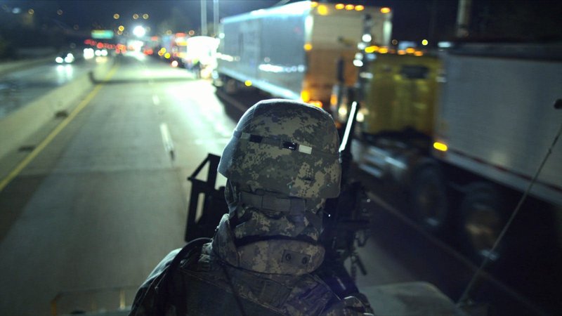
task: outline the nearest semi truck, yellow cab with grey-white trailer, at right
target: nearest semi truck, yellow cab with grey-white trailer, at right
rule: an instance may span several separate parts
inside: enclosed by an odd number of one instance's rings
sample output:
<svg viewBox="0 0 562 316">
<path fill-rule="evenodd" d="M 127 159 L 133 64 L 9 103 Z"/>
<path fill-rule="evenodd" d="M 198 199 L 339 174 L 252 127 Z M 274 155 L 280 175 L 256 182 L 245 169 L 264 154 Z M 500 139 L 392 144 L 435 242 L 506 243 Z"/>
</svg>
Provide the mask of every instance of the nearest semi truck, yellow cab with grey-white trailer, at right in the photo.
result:
<svg viewBox="0 0 562 316">
<path fill-rule="evenodd" d="M 492 246 L 525 192 L 541 205 L 526 211 L 562 217 L 562 145 L 551 147 L 562 126 L 553 107 L 562 102 L 562 45 L 365 51 L 353 97 L 334 98 L 332 112 L 343 121 L 358 100 L 355 162 L 403 188 L 422 227 L 452 231 L 475 261 L 494 261 L 502 248 Z"/>
</svg>

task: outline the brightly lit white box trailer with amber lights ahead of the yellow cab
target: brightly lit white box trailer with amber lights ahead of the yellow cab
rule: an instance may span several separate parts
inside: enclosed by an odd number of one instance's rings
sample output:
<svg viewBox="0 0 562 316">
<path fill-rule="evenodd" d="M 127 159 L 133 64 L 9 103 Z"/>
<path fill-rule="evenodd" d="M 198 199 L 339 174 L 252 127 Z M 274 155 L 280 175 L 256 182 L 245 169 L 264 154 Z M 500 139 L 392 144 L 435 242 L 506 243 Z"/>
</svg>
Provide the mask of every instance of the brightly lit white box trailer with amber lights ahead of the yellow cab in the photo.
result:
<svg viewBox="0 0 562 316">
<path fill-rule="evenodd" d="M 358 44 L 389 44 L 391 16 L 390 8 L 301 1 L 224 18 L 214 83 L 326 107 L 336 81 L 355 84 Z"/>
</svg>

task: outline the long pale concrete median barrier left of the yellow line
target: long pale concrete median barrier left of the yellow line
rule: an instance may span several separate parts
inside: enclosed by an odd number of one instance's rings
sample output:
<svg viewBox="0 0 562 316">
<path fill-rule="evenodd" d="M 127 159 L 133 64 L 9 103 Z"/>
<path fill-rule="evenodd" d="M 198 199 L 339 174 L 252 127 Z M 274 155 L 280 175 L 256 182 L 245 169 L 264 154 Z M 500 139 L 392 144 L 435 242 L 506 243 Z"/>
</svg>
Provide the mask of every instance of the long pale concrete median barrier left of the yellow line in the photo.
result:
<svg viewBox="0 0 562 316">
<path fill-rule="evenodd" d="M 95 85 L 91 78 L 102 80 L 113 63 L 114 59 L 110 58 L 107 62 L 99 64 L 91 74 L 83 74 L 0 119 L 0 159 L 18 150 L 22 145 L 29 145 L 25 144 L 25 140 L 48 121 L 56 119 L 57 114 L 70 114 L 79 104 L 79 100 Z"/>
</svg>

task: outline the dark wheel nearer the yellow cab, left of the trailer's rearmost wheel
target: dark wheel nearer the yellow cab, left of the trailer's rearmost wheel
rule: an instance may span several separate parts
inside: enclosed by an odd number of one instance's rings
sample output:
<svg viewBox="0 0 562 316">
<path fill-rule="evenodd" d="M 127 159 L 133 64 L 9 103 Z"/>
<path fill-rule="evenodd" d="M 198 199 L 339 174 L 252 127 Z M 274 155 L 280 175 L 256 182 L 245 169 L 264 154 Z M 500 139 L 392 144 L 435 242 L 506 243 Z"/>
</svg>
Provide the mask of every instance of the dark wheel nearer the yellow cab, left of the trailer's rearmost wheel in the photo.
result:
<svg viewBox="0 0 562 316">
<path fill-rule="evenodd" d="M 410 191 L 412 217 L 429 232 L 439 232 L 447 221 L 447 188 L 438 166 L 422 166 L 414 173 Z"/>
</svg>

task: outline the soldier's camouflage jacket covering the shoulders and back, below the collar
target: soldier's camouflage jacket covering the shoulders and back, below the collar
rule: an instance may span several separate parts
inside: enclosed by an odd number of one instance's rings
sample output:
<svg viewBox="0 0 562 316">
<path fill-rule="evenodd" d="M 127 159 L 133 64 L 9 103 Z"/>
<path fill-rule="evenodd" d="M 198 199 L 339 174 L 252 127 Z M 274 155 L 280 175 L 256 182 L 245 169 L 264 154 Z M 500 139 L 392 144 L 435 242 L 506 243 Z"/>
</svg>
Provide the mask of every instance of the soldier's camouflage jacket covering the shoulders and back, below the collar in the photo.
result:
<svg viewBox="0 0 562 316">
<path fill-rule="evenodd" d="M 235 246 L 228 215 L 223 216 L 213 241 L 189 251 L 171 283 L 161 280 L 178 250 L 157 265 L 130 315 L 372 315 L 355 296 L 338 298 L 314 272 L 278 274 L 289 271 L 275 263 L 247 265 L 251 259 L 244 259 L 244 251 Z"/>
</svg>

